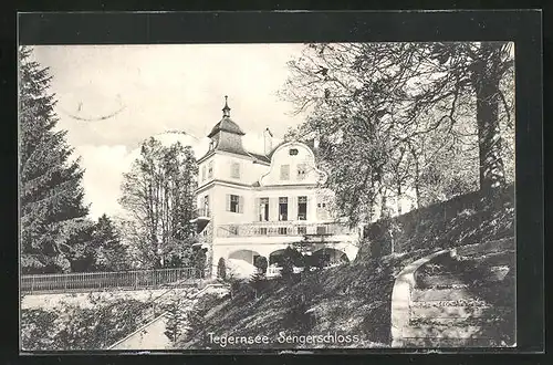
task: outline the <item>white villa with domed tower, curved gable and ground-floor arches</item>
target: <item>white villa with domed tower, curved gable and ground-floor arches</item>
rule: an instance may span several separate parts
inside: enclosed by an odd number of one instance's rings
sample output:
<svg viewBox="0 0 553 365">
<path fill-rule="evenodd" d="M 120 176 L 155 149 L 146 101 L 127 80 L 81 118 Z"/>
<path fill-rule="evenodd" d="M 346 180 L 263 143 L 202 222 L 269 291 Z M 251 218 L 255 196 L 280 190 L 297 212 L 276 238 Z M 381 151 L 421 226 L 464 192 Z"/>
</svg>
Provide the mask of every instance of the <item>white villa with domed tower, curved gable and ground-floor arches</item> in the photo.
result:
<svg viewBox="0 0 553 365">
<path fill-rule="evenodd" d="M 300 242 L 304 255 L 325 265 L 353 260 L 361 230 L 336 217 L 332 191 L 317 187 L 326 174 L 315 166 L 313 149 L 300 142 L 273 146 L 268 128 L 264 154 L 248 152 L 227 102 L 222 112 L 208 135 L 209 150 L 198 159 L 194 221 L 196 244 L 207 250 L 208 275 L 217 274 L 220 258 L 227 268 L 253 273 L 258 255 L 267 258 L 268 275 L 275 273 L 279 254 Z"/>
</svg>

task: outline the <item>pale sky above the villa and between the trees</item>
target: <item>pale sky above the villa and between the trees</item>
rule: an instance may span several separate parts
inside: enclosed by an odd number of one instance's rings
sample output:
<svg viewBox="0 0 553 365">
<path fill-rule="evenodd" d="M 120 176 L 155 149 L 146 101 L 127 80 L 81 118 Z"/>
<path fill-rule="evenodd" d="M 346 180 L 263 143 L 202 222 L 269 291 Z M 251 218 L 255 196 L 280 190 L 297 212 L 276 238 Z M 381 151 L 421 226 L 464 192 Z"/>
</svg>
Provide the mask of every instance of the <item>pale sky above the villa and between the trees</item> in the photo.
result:
<svg viewBox="0 0 553 365">
<path fill-rule="evenodd" d="M 34 56 L 50 69 L 58 127 L 85 169 L 85 202 L 91 217 L 121 215 L 122 174 L 140 143 L 157 136 L 166 143 L 207 149 L 207 134 L 222 116 L 225 95 L 231 118 L 247 133 L 244 145 L 262 152 L 262 132 L 275 137 L 298 125 L 293 105 L 281 101 L 301 44 L 41 45 Z M 184 131 L 167 134 L 167 131 Z M 199 157 L 199 156 L 198 156 Z"/>
</svg>

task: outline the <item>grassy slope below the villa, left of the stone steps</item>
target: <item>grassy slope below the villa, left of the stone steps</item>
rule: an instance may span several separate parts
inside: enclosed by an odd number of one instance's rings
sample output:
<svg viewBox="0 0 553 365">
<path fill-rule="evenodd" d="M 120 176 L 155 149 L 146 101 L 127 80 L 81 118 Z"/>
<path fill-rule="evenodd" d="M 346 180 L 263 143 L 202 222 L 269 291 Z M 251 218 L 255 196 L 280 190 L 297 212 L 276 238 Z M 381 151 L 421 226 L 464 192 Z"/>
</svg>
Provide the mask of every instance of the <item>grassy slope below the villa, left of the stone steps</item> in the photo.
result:
<svg viewBox="0 0 553 365">
<path fill-rule="evenodd" d="M 255 299 L 243 284 L 233 298 L 200 301 L 192 330 L 176 348 L 316 348 L 385 347 L 390 344 L 390 299 L 395 277 L 416 251 L 355 261 L 319 272 L 303 273 L 295 283 L 267 282 Z M 210 333 L 211 336 L 209 335 Z M 311 343 L 307 338 L 282 343 L 282 334 L 349 335 L 342 342 Z M 220 344 L 213 336 L 268 336 L 268 344 Z M 355 341 L 353 336 L 357 336 Z M 280 338 L 280 341 L 279 341 Z M 340 341 L 340 338 L 338 338 Z"/>
</svg>

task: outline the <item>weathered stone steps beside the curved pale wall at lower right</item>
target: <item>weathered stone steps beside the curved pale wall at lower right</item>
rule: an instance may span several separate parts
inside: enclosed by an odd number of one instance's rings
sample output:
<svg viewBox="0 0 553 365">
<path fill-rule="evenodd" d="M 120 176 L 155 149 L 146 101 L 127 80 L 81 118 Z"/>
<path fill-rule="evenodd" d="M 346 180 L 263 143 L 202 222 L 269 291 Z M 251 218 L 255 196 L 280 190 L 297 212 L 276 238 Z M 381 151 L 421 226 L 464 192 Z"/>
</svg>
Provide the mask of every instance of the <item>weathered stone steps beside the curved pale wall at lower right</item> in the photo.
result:
<svg viewBox="0 0 553 365">
<path fill-rule="evenodd" d="M 505 278 L 513 278 L 513 240 L 459 248 L 422 262 L 413 271 L 396 345 L 510 345 L 505 338 L 514 342 L 514 280 Z"/>
</svg>

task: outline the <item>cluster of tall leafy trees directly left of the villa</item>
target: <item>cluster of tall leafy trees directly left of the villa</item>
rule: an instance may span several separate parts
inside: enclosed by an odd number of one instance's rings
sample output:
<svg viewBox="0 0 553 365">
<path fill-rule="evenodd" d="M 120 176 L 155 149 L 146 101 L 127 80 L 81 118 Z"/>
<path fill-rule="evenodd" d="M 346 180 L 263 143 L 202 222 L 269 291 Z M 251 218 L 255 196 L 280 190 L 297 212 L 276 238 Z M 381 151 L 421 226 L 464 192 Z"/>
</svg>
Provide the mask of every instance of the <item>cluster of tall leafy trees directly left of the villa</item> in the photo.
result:
<svg viewBox="0 0 553 365">
<path fill-rule="evenodd" d="M 197 169 L 191 147 L 165 147 L 149 138 L 124 174 L 119 202 L 131 216 L 126 236 L 143 267 L 190 264 Z"/>
</svg>

